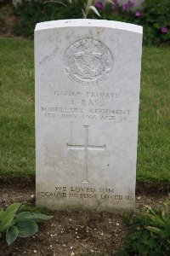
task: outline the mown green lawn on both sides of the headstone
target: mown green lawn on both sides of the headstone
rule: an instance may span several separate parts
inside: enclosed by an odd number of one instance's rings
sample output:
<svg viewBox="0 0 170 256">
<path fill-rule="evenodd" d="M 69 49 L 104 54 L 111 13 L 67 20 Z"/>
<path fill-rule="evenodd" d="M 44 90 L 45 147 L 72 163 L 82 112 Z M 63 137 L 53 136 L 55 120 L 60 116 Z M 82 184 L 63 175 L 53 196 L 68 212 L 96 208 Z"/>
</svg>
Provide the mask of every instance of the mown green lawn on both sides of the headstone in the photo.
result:
<svg viewBox="0 0 170 256">
<path fill-rule="evenodd" d="M 170 181 L 170 48 L 144 48 L 137 180 Z M 0 39 L 0 177 L 35 175 L 33 41 Z"/>
</svg>

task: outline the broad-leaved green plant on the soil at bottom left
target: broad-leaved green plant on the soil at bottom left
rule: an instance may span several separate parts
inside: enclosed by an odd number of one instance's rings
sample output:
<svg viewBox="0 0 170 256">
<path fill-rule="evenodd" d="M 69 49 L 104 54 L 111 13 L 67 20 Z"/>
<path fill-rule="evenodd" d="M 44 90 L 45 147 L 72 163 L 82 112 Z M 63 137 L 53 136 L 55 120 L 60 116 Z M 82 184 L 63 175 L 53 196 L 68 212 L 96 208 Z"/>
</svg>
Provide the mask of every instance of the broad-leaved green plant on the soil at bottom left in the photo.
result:
<svg viewBox="0 0 170 256">
<path fill-rule="evenodd" d="M 37 223 L 52 217 L 37 212 L 26 212 L 26 207 L 21 203 L 11 204 L 6 210 L 0 211 L 0 239 L 6 237 L 10 245 L 17 237 L 33 236 L 38 231 Z"/>
</svg>

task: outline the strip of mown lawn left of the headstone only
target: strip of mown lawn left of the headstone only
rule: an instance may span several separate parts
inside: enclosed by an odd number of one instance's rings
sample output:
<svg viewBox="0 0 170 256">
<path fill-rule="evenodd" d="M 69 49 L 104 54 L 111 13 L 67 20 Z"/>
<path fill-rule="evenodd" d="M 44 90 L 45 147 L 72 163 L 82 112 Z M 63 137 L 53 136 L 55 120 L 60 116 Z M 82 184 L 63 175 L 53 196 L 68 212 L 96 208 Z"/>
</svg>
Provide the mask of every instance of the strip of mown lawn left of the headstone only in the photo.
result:
<svg viewBox="0 0 170 256">
<path fill-rule="evenodd" d="M 34 175 L 33 42 L 0 39 L 0 175 Z"/>
</svg>

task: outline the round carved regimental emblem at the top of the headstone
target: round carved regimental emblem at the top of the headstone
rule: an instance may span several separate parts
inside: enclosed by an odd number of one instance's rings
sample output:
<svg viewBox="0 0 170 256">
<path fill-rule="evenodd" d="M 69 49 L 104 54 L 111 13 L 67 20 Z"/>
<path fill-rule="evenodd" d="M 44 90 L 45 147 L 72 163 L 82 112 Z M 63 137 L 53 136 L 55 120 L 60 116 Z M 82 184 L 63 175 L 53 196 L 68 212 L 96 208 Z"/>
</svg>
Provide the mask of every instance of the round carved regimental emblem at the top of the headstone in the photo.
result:
<svg viewBox="0 0 170 256">
<path fill-rule="evenodd" d="M 110 49 L 94 38 L 84 38 L 65 51 L 65 71 L 77 84 L 97 85 L 109 78 L 113 67 Z"/>
</svg>

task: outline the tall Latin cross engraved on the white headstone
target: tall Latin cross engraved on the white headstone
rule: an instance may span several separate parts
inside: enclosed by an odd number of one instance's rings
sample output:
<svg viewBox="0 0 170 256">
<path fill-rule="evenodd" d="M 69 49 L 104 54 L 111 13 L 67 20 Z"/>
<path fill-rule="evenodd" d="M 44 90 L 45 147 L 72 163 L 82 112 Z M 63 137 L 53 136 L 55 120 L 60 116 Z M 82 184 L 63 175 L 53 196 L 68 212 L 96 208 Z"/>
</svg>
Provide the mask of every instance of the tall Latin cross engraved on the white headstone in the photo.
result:
<svg viewBox="0 0 170 256">
<path fill-rule="evenodd" d="M 85 143 L 84 145 L 71 145 L 69 143 L 66 143 L 67 149 L 83 149 L 84 150 L 84 156 L 83 156 L 83 180 L 82 183 L 89 183 L 88 182 L 88 150 L 89 149 L 96 149 L 96 150 L 105 150 L 105 145 L 103 146 L 94 146 L 88 144 L 88 126 L 89 125 L 83 125 L 84 127 L 84 137 L 85 137 Z"/>
</svg>

